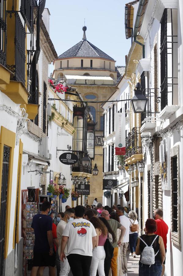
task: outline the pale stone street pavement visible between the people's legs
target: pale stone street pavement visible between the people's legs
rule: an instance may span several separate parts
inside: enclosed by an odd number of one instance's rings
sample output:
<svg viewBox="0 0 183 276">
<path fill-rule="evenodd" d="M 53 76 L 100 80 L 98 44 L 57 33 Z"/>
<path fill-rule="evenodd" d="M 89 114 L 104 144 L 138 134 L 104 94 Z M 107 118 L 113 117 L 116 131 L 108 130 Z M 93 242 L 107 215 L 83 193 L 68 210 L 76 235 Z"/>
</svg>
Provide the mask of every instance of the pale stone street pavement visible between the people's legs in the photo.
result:
<svg viewBox="0 0 183 276">
<path fill-rule="evenodd" d="M 128 276 L 137 276 L 138 275 L 138 263 L 139 263 L 139 257 L 133 258 L 129 256 L 130 251 L 127 251 L 127 261 L 128 261 Z M 43 276 L 48 276 L 48 267 L 45 267 Z M 57 274 L 55 274 L 57 275 Z M 30 271 L 28 271 L 28 276 L 30 276 Z M 70 271 L 68 276 L 72 276 L 72 273 Z"/>
</svg>

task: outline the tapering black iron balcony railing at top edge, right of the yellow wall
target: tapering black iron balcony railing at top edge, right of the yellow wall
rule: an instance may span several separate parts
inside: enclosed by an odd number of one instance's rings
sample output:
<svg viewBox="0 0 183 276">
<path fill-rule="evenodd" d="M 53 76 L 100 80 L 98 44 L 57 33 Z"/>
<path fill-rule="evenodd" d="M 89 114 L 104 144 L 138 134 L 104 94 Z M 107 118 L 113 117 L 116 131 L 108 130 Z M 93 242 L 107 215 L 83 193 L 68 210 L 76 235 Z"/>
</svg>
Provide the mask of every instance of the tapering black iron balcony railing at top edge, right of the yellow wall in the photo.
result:
<svg viewBox="0 0 183 276">
<path fill-rule="evenodd" d="M 30 31 L 33 32 L 33 0 L 21 0 L 20 13 L 26 22 L 26 25 Z"/>
</svg>

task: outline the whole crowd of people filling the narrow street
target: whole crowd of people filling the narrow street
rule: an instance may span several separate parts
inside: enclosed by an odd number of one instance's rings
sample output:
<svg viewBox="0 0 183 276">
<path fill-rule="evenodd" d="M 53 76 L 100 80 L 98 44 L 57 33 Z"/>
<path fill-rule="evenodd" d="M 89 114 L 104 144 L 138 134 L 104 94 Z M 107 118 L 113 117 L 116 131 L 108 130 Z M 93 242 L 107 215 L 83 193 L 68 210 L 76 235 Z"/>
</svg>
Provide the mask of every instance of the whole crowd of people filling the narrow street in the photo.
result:
<svg viewBox="0 0 183 276">
<path fill-rule="evenodd" d="M 50 276 L 68 276 L 70 270 L 73 276 L 127 276 L 128 247 L 131 258 L 140 255 L 139 275 L 164 275 L 168 226 L 161 209 L 147 219 L 145 234 L 138 237 L 137 214 L 130 204 L 103 207 L 95 198 L 91 206 L 66 206 L 57 214 L 45 201 L 32 228 L 31 276 L 42 276 L 45 266 Z"/>
</svg>

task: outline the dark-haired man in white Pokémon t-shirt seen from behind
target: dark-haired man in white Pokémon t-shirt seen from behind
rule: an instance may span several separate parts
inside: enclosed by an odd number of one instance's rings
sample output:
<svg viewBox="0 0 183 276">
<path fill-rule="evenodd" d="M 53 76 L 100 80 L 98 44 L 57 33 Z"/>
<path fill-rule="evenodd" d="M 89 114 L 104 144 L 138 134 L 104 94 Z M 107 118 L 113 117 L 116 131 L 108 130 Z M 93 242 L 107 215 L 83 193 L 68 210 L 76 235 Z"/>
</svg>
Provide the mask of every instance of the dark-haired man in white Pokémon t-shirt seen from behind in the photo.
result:
<svg viewBox="0 0 183 276">
<path fill-rule="evenodd" d="M 67 244 L 67 259 L 73 276 L 89 275 L 92 250 L 97 243 L 97 233 L 90 221 L 83 219 L 84 206 L 75 207 L 75 219 L 68 222 L 62 234 L 60 260 L 64 262 Z"/>
</svg>

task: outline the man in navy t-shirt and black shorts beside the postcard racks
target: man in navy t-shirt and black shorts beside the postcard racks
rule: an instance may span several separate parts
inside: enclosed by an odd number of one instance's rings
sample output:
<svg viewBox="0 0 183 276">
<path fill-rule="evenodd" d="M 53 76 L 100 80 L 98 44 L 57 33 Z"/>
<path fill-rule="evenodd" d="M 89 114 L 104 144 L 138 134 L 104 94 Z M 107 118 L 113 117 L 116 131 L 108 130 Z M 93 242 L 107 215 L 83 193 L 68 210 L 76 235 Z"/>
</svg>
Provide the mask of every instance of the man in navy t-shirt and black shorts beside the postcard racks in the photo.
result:
<svg viewBox="0 0 183 276">
<path fill-rule="evenodd" d="M 33 217 L 31 227 L 35 233 L 34 258 L 31 276 L 43 275 L 45 266 L 49 266 L 50 276 L 55 275 L 55 256 L 53 255 L 53 234 L 51 203 L 44 201 L 41 206 L 41 213 Z"/>
</svg>

